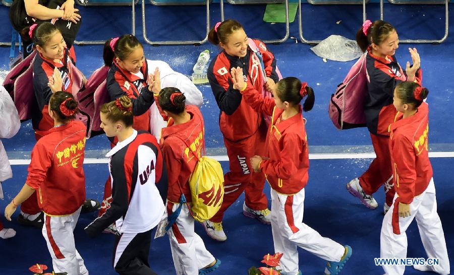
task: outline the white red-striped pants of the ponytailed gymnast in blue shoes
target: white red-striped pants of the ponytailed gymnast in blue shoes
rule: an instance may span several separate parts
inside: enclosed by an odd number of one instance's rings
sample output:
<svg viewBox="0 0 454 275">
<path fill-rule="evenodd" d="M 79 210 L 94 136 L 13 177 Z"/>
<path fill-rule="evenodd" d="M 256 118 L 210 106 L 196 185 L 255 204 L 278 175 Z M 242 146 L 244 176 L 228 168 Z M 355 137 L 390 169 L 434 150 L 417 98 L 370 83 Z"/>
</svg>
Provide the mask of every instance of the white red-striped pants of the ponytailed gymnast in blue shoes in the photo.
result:
<svg viewBox="0 0 454 275">
<path fill-rule="evenodd" d="M 304 188 L 294 195 L 279 194 L 271 188 L 271 229 L 274 252 L 283 253 L 282 272 L 298 273 L 298 246 L 327 261 L 340 261 L 345 248 L 324 238 L 303 223 Z"/>
</svg>

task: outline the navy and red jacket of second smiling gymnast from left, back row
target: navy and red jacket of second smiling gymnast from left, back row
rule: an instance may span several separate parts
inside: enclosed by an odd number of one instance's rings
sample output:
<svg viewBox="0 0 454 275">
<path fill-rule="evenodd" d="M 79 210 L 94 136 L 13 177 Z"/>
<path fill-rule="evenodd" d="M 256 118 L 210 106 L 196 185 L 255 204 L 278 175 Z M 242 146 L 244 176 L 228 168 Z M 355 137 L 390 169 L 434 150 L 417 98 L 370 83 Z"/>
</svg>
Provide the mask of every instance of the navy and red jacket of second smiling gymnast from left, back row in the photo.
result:
<svg viewBox="0 0 454 275">
<path fill-rule="evenodd" d="M 136 130 L 150 132 L 150 106 L 154 102 L 153 93 L 148 91 L 148 62 L 143 62 L 140 72 L 144 79 L 123 70 L 115 61 L 107 73 L 107 91 L 110 100 L 127 95 L 133 104 L 134 123 Z"/>
</svg>

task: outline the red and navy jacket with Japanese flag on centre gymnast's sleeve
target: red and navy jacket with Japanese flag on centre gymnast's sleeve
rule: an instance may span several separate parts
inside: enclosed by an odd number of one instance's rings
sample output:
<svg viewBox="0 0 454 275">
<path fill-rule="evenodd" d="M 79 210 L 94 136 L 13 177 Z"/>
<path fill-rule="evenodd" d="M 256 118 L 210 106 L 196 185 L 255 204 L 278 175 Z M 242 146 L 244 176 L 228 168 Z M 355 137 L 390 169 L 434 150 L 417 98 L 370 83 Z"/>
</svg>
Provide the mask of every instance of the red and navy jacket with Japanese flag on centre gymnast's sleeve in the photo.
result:
<svg viewBox="0 0 454 275">
<path fill-rule="evenodd" d="M 262 54 L 266 76 L 277 82 L 279 79 L 274 55 L 267 50 L 263 42 L 259 40 L 254 42 Z M 224 138 L 232 142 L 241 141 L 253 135 L 262 123 L 262 116 L 241 100 L 240 91 L 233 89 L 230 70 L 237 66 L 243 68 L 248 85 L 262 91 L 264 80 L 259 72 L 260 64 L 249 47 L 245 57 L 231 56 L 225 51 L 220 52 L 213 58 L 207 71 L 211 90 L 220 109 L 220 130 Z"/>
</svg>

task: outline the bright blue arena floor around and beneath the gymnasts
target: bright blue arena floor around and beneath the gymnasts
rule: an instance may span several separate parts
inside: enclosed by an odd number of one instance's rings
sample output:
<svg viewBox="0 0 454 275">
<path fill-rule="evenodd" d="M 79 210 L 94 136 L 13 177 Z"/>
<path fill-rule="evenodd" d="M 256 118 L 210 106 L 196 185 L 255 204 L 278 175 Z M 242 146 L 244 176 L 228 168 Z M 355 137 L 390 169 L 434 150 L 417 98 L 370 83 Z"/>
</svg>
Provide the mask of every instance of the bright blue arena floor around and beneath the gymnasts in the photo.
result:
<svg viewBox="0 0 454 275">
<path fill-rule="evenodd" d="M 454 22 L 454 5 L 450 4 L 450 22 Z M 141 7 L 138 6 L 137 9 Z M 235 18 L 244 24 L 250 37 L 260 39 L 278 39 L 284 34 L 283 24 L 270 25 L 262 21 L 264 5 L 233 6 L 226 4 L 225 18 Z M 212 4 L 211 23 L 219 20 L 218 4 Z M 137 36 L 141 38 L 140 10 L 137 10 Z M 0 21 L 9 26 L 7 8 L 0 7 Z M 131 13 L 127 7 L 88 7 L 81 8 L 84 23 L 78 40 L 107 39 L 124 33 L 130 33 Z M 155 7 L 147 6 L 147 35 L 151 40 L 202 39 L 205 28 L 204 8 L 201 7 Z M 368 18 L 379 18 L 377 4 L 367 5 Z M 112 16 L 116 15 L 116 16 Z M 444 34 L 443 6 L 398 6 L 385 5 L 385 19 L 393 24 L 401 39 L 435 39 Z M 336 24 L 342 20 L 341 24 Z M 330 34 L 340 34 L 354 38 L 356 30 L 361 25 L 361 6 L 312 6 L 303 5 L 303 28 L 307 39 L 324 39 Z M 157 27 L 159 26 L 159 28 Z M 290 35 L 299 37 L 298 24 L 291 23 Z M 450 24 L 452 30 L 454 25 Z M 140 34 L 139 34 L 140 33 Z M 0 30 L 0 41 L 8 41 L 10 30 Z M 450 31 L 447 41 L 440 45 L 401 44 L 398 50 L 398 60 L 405 64 L 410 59 L 409 46 L 417 47 L 421 54 L 423 68 L 423 83 L 430 90 L 430 146 L 448 148 L 454 145 L 452 130 L 452 100 L 453 86 L 452 65 L 454 64 L 454 33 Z M 142 39 L 143 41 L 143 39 Z M 314 109 L 305 114 L 309 145 L 336 147 L 370 145 L 369 133 L 365 128 L 348 131 L 337 131 L 327 115 L 327 105 L 331 93 L 338 83 L 342 82 L 350 62 L 328 60 L 323 62 L 309 48 L 309 45 L 295 43 L 289 39 L 280 45 L 268 45 L 274 52 L 277 64 L 283 76 L 295 76 L 307 81 L 316 93 Z M 192 66 L 200 51 L 209 49 L 215 56 L 219 49 L 211 44 L 201 46 L 149 46 L 145 45 L 145 55 L 148 59 L 159 59 L 168 62 L 174 70 L 187 76 L 192 73 Z M 77 66 L 87 76 L 102 64 L 102 46 L 76 46 Z M 0 48 L 0 69 L 7 70 L 9 49 Z M 219 109 L 214 101 L 208 85 L 200 86 L 204 96 L 201 108 L 206 125 L 206 145 L 208 148 L 223 148 L 222 135 L 219 132 L 217 117 Z M 31 125 L 22 124 L 19 133 L 10 140 L 3 140 L 10 156 L 27 158 L 35 144 Z M 96 136 L 87 141 L 87 152 L 97 152 L 109 147 L 105 135 Z M 451 150 L 452 151 L 452 150 Z M 18 155 L 22 154 L 20 157 Z M 351 261 L 346 265 L 342 274 L 382 274 L 381 267 L 374 264 L 373 258 L 379 257 L 379 235 L 382 221 L 381 205 L 383 192 L 377 192 L 380 203 L 378 210 L 371 211 L 363 207 L 345 189 L 345 184 L 353 177 L 367 169 L 370 159 L 348 160 L 311 160 L 310 179 L 306 189 L 304 222 L 320 232 L 321 235 L 333 240 L 349 244 L 354 249 Z M 454 222 L 450 219 L 454 213 L 452 193 L 452 173 L 454 159 L 431 159 L 434 167 L 434 179 L 437 188 L 438 213 L 443 223 L 448 253 L 452 258 L 454 253 Z M 222 162 L 224 171 L 228 171 L 228 163 Z M 107 177 L 106 164 L 85 165 L 87 197 L 102 199 L 102 192 Z M 13 166 L 14 178 L 4 184 L 5 200 L 0 200 L 0 210 L 15 195 L 26 178 L 26 166 Z M 269 187 L 265 186 L 269 197 Z M 213 255 L 222 260 L 220 268 L 213 274 L 246 274 L 252 265 L 260 265 L 262 256 L 273 252 L 271 229 L 259 224 L 241 214 L 244 197 L 234 203 L 224 218 L 224 230 L 228 241 L 218 243 L 209 239 L 200 225 L 196 232 L 204 239 L 207 248 Z M 14 216 L 16 218 L 18 213 Z M 111 251 L 113 235 L 101 235 L 96 239 L 88 238 L 82 231 L 93 220 L 91 214 L 82 215 L 75 230 L 77 248 L 85 259 L 91 274 L 115 274 L 111 268 Z M 5 219 L 3 219 L 5 222 Z M 28 274 L 30 265 L 39 262 L 51 265 L 50 257 L 39 231 L 24 228 L 15 221 L 5 223 L 13 227 L 18 234 L 9 240 L 0 240 L 0 273 Z M 426 257 L 419 238 L 416 225 L 408 230 L 408 257 Z M 452 263 L 452 259 L 451 259 Z M 158 274 L 175 274 L 168 240 L 166 237 L 154 240 L 150 250 L 150 264 Z M 320 274 L 325 262 L 312 254 L 300 251 L 300 268 L 303 274 Z M 406 274 L 423 274 L 411 267 Z"/>
</svg>

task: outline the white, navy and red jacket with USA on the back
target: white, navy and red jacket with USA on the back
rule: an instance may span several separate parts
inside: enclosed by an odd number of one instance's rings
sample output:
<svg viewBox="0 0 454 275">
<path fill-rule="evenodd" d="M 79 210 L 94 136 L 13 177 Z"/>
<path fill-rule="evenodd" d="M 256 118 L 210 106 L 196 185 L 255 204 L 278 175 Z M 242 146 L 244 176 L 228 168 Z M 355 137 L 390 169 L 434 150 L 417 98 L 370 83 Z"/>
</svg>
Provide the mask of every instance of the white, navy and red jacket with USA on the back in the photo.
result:
<svg viewBox="0 0 454 275">
<path fill-rule="evenodd" d="M 142 233 L 161 220 L 167 196 L 167 173 L 156 138 L 137 132 L 117 143 L 110 157 L 112 179 L 110 208 L 85 228 L 95 236 L 113 222 L 119 233 Z"/>
</svg>

